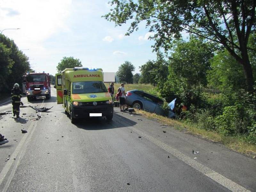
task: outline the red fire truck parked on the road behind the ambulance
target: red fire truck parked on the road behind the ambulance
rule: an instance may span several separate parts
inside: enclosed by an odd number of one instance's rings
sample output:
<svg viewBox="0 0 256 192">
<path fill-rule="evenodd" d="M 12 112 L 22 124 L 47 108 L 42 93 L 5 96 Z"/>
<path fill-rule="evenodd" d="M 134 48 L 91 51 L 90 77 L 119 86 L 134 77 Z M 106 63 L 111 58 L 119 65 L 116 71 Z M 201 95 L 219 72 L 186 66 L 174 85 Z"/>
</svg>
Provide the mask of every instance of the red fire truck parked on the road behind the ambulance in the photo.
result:
<svg viewBox="0 0 256 192">
<path fill-rule="evenodd" d="M 49 73 L 27 73 L 26 95 L 28 101 L 39 96 L 51 97 L 51 80 Z"/>
</svg>

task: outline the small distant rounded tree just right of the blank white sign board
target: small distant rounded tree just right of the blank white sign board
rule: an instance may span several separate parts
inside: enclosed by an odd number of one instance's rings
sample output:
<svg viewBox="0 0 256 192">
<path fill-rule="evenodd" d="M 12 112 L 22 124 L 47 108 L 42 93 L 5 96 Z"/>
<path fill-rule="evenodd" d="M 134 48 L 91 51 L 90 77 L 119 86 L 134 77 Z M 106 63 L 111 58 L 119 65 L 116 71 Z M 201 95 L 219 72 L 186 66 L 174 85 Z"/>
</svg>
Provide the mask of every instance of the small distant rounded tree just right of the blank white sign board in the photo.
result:
<svg viewBox="0 0 256 192">
<path fill-rule="evenodd" d="M 119 78 L 120 82 L 133 83 L 132 72 L 134 70 L 134 65 L 132 65 L 130 61 L 125 61 L 122 65 L 118 67 L 116 76 Z"/>
</svg>

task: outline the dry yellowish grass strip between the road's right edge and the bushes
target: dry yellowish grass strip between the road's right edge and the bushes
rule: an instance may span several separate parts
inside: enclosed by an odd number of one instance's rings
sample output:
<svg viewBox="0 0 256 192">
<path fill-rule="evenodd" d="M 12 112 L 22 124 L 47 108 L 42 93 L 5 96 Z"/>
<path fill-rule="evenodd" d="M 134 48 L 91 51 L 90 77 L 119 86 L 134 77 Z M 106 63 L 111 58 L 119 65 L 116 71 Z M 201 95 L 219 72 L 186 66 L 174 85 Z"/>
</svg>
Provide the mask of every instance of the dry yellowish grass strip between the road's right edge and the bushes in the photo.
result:
<svg viewBox="0 0 256 192">
<path fill-rule="evenodd" d="M 241 138 L 224 136 L 218 134 L 217 132 L 207 131 L 205 129 L 200 129 L 196 125 L 187 124 L 178 120 L 169 119 L 161 115 L 156 115 L 155 113 L 149 113 L 142 110 L 136 110 L 136 113 L 142 114 L 149 119 L 157 119 L 162 124 L 174 127 L 177 130 L 185 130 L 187 133 L 197 135 L 201 138 L 210 140 L 212 142 L 218 142 L 226 146 L 228 149 L 237 151 L 246 156 L 255 158 L 256 156 L 256 145 L 247 143 Z"/>
</svg>

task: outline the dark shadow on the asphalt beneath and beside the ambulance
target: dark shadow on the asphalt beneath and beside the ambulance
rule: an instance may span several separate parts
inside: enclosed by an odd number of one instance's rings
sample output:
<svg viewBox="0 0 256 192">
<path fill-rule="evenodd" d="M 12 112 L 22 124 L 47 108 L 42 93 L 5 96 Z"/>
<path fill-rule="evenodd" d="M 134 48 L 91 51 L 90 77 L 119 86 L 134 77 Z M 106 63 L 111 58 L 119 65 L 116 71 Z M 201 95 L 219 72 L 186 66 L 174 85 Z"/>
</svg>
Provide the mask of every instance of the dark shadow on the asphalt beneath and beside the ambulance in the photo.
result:
<svg viewBox="0 0 256 192">
<path fill-rule="evenodd" d="M 122 120 L 119 120 L 119 119 L 122 119 Z M 76 127 L 80 129 L 85 129 L 85 130 L 102 130 L 102 129 L 130 127 L 135 124 L 137 123 L 132 121 L 131 119 L 127 119 L 114 112 L 114 117 L 112 121 L 108 121 L 107 119 L 105 119 L 105 117 L 78 119 L 76 123 Z"/>
</svg>

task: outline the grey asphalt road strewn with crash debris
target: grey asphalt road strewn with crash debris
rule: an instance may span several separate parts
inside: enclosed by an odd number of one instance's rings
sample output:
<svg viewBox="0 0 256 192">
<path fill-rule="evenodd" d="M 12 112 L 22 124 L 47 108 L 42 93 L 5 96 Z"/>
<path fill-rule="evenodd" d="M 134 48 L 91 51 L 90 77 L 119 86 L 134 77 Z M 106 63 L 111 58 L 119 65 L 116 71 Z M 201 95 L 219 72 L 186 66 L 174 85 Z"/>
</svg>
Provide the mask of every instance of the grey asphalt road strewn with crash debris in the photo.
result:
<svg viewBox="0 0 256 192">
<path fill-rule="evenodd" d="M 53 88 L 50 100 L 22 101 L 53 108 L 36 121 L 30 107 L 21 108 L 20 120 L 0 119 L 10 141 L 0 146 L 0 191 L 256 191 L 255 159 L 220 144 L 118 108 L 112 122 L 73 125 Z"/>
</svg>

